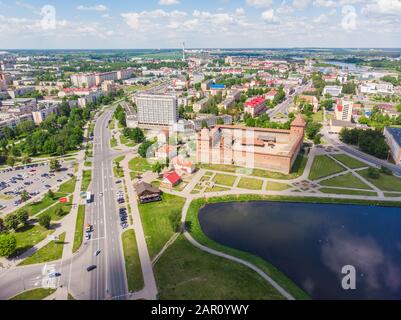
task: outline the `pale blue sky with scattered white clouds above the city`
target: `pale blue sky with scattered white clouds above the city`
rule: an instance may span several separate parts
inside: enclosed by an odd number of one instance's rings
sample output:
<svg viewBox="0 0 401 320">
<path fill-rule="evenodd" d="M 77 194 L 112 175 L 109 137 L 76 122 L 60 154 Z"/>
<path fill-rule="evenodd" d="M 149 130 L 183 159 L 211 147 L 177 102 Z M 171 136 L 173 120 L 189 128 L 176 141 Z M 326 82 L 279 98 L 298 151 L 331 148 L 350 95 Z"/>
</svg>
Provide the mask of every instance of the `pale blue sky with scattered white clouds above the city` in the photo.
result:
<svg viewBox="0 0 401 320">
<path fill-rule="evenodd" d="M 0 0 L 0 48 L 401 47 L 401 0 Z"/>
</svg>

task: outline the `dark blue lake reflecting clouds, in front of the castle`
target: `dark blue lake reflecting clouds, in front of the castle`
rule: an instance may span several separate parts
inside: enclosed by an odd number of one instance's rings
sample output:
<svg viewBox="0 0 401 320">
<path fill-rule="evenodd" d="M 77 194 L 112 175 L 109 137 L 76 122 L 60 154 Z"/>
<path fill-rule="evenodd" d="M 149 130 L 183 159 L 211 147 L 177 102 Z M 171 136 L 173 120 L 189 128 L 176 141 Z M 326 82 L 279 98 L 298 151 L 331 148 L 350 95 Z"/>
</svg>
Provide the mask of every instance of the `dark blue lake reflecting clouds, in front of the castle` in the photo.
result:
<svg viewBox="0 0 401 320">
<path fill-rule="evenodd" d="M 401 208 L 249 202 L 199 213 L 216 242 L 272 263 L 314 299 L 401 299 Z M 342 267 L 356 289 L 342 288 Z"/>
</svg>

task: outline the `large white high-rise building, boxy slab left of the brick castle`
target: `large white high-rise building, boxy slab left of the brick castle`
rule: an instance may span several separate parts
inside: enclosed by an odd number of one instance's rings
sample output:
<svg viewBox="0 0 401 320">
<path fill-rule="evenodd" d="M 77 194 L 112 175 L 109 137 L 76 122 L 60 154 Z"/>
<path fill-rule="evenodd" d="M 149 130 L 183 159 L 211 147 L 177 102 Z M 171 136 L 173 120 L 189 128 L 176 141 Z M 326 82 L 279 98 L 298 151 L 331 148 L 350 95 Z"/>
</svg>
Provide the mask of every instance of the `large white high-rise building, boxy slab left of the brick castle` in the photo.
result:
<svg viewBox="0 0 401 320">
<path fill-rule="evenodd" d="M 177 99 L 171 95 L 140 94 L 135 97 L 138 123 L 170 126 L 178 121 Z"/>
</svg>

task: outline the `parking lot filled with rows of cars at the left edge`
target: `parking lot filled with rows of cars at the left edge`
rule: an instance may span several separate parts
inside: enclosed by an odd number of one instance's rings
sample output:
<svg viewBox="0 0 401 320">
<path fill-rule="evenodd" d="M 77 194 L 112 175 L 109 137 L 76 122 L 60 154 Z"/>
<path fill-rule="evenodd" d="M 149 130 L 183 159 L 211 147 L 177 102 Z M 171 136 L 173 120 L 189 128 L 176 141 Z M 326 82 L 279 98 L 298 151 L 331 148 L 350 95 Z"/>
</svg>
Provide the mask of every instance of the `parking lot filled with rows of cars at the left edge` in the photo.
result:
<svg viewBox="0 0 401 320">
<path fill-rule="evenodd" d="M 14 169 L 0 170 L 0 211 L 8 213 L 21 203 L 21 193 L 37 197 L 69 179 L 74 173 L 73 162 L 61 162 L 59 172 L 50 172 L 48 163 L 30 164 Z M 56 191 L 56 190 L 54 190 Z"/>
</svg>

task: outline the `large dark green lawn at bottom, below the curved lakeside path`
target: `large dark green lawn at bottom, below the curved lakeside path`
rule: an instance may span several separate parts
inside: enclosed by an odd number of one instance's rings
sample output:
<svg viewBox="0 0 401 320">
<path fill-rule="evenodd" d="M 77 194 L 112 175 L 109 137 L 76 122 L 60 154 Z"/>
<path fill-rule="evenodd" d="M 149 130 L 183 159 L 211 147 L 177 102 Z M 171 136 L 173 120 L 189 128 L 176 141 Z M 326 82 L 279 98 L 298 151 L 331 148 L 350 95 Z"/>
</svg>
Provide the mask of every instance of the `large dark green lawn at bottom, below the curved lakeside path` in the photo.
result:
<svg viewBox="0 0 401 320">
<path fill-rule="evenodd" d="M 155 276 L 161 300 L 281 300 L 253 270 L 205 253 L 180 236 L 160 257 Z"/>
</svg>

